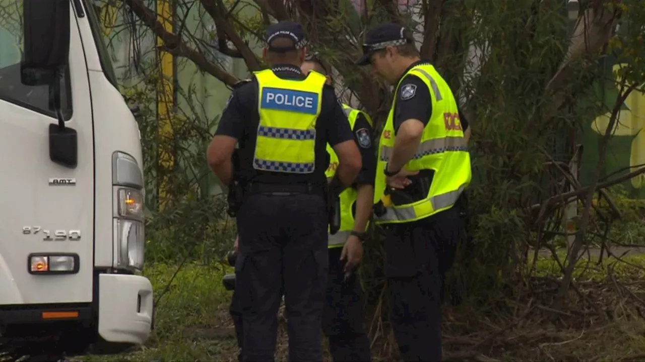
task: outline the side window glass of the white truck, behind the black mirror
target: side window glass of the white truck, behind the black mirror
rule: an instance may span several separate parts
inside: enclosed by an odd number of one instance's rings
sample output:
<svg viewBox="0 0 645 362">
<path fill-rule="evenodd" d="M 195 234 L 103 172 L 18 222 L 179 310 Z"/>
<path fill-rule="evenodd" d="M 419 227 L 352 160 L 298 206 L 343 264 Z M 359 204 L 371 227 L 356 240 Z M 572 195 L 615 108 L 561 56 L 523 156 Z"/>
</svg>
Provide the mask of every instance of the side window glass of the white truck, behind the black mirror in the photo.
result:
<svg viewBox="0 0 645 362">
<path fill-rule="evenodd" d="M 0 100 L 56 117 L 48 86 L 28 86 L 21 81 L 24 0 L 0 0 Z M 61 108 L 65 120 L 72 118 L 69 69 L 61 77 Z"/>
</svg>

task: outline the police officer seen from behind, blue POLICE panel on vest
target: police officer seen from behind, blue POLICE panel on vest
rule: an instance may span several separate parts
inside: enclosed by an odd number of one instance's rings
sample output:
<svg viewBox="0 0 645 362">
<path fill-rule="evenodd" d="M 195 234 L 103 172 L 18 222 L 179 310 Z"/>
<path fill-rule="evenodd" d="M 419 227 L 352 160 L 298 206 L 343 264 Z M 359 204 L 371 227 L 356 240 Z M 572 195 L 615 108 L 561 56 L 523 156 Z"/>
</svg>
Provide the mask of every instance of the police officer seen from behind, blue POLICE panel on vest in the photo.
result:
<svg viewBox="0 0 645 362">
<path fill-rule="evenodd" d="M 321 316 L 328 270 L 326 144 L 339 157 L 339 183 L 350 186 L 361 155 L 333 88 L 318 73 L 303 75 L 303 30 L 281 22 L 266 33 L 263 56 L 272 68 L 256 71 L 233 90 L 207 158 L 232 185 L 232 154 L 239 143 L 236 184 L 239 254 L 236 293 L 243 303 L 243 361 L 273 361 L 281 287 L 288 318 L 289 358 L 321 361 Z"/>
</svg>

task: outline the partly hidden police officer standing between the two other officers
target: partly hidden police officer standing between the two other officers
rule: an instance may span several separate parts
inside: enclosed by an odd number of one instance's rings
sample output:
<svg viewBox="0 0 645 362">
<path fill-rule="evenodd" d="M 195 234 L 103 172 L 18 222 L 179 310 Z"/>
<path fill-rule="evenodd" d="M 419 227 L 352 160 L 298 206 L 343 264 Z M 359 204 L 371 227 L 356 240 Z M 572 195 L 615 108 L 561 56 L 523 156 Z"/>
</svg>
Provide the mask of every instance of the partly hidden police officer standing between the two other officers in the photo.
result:
<svg viewBox="0 0 645 362">
<path fill-rule="evenodd" d="M 332 85 L 323 61 L 308 53 L 303 73 L 317 71 Z M 354 272 L 361 261 L 362 243 L 372 214 L 376 160 L 372 142 L 372 119 L 366 113 L 343 104 L 348 120 L 361 150 L 362 169 L 355 186 L 341 193 L 341 227 L 338 233 L 329 236 L 329 274 L 326 303 L 323 309 L 323 331 L 329 338 L 329 350 L 335 362 L 371 361 L 370 341 L 363 328 L 364 293 L 358 275 Z M 328 145 L 330 166 L 326 176 L 330 183 L 336 173 L 338 157 Z"/>
</svg>

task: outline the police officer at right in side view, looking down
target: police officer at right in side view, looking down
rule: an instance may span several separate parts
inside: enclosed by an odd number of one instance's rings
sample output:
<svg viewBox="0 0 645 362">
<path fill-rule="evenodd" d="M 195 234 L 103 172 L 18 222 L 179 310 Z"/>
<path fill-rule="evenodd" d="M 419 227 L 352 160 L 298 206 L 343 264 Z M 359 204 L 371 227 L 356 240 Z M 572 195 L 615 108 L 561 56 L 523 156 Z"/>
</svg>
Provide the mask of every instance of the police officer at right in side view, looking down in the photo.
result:
<svg viewBox="0 0 645 362">
<path fill-rule="evenodd" d="M 357 64 L 395 86 L 381 133 L 375 222 L 387 237 L 392 327 L 407 361 L 441 361 L 441 291 L 462 233 L 453 207 L 471 179 L 464 117 L 401 25 L 368 32 Z"/>
</svg>

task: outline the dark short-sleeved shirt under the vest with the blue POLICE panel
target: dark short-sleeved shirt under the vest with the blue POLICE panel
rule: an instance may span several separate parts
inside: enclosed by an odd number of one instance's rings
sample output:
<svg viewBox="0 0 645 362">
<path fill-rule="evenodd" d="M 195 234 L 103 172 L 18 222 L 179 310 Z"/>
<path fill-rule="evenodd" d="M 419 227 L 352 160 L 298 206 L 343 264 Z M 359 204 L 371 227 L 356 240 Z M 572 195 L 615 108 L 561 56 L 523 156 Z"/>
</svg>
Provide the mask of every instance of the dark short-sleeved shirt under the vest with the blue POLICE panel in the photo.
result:
<svg viewBox="0 0 645 362">
<path fill-rule="evenodd" d="M 273 73 L 281 79 L 305 79 L 306 76 L 296 66 L 276 64 Z M 255 138 L 260 116 L 257 109 L 258 84 L 255 77 L 235 87 L 228 99 L 226 108 L 219 120 L 215 135 L 225 135 L 237 138 L 239 146 L 239 162 L 241 169 L 236 172 L 246 181 L 266 184 L 316 184 L 324 186 L 324 172 L 329 165 L 329 155 L 326 144 L 332 146 L 354 139 L 352 129 L 347 121 L 342 106 L 338 102 L 333 87 L 325 85 L 321 99 L 321 113 L 316 120 L 315 142 L 315 171 L 301 175 L 293 173 L 278 173 L 253 169 L 255 153 Z"/>
</svg>

